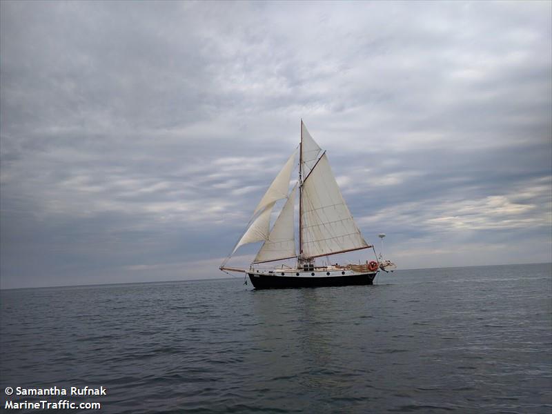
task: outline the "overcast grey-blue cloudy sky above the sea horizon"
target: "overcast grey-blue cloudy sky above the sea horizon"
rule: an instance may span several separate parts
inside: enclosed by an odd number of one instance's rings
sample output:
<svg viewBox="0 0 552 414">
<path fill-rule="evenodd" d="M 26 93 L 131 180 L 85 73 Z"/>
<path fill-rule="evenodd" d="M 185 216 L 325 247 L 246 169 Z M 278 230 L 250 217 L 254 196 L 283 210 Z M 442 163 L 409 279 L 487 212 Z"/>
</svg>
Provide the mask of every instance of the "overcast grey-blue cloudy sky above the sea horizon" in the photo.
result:
<svg viewBox="0 0 552 414">
<path fill-rule="evenodd" d="M 224 277 L 301 117 L 400 268 L 551 262 L 551 4 L 1 1 L 0 287 Z"/>
</svg>

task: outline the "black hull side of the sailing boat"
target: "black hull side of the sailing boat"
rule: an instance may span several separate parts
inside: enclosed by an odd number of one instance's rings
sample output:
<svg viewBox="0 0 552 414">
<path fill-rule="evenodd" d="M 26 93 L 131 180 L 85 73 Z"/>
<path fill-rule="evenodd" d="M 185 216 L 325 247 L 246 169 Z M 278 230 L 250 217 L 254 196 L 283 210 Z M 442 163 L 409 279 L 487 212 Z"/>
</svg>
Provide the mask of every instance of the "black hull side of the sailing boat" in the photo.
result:
<svg viewBox="0 0 552 414">
<path fill-rule="evenodd" d="M 362 275 L 345 275 L 332 277 L 295 277 L 257 275 L 248 273 L 249 279 L 255 289 L 278 289 L 278 288 L 314 288 L 317 286 L 351 286 L 370 285 L 374 282 L 375 273 Z"/>
</svg>

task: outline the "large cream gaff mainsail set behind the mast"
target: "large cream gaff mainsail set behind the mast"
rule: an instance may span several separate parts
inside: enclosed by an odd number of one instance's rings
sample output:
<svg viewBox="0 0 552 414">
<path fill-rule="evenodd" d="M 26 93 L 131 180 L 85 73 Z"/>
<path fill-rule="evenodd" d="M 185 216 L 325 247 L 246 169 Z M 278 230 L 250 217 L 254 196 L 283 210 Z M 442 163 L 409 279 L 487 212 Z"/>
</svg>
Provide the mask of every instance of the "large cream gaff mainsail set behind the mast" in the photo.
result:
<svg viewBox="0 0 552 414">
<path fill-rule="evenodd" d="M 303 183 L 302 242 L 305 257 L 369 247 L 353 221 L 325 154 Z"/>
</svg>

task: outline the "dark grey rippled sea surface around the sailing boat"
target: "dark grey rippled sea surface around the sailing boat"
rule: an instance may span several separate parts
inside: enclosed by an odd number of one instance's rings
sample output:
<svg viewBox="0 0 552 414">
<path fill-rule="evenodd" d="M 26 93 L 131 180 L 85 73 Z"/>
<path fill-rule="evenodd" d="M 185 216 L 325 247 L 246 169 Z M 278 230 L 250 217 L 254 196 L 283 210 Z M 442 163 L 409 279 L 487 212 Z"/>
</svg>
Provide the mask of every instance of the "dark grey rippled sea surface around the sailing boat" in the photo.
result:
<svg viewBox="0 0 552 414">
<path fill-rule="evenodd" d="M 374 286 L 253 290 L 236 278 L 0 295 L 2 409 L 552 413 L 551 264 L 397 270 Z"/>
</svg>

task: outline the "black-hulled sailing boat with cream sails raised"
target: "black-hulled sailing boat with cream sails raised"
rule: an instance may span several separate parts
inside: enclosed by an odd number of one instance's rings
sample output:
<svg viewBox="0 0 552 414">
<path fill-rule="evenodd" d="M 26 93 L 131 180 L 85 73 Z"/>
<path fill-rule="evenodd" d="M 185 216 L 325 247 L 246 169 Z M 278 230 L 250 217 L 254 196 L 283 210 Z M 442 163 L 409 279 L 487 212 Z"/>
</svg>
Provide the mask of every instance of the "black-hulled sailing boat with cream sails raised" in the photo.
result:
<svg viewBox="0 0 552 414">
<path fill-rule="evenodd" d="M 301 120 L 299 177 L 288 192 L 297 148 L 266 190 L 253 211 L 244 235 L 220 270 L 246 273 L 255 288 L 344 286 L 373 284 L 380 270 L 395 264 L 377 257 L 375 249 L 362 237 L 331 170 L 326 151 L 318 146 Z M 295 246 L 295 199 L 299 193 L 299 248 Z M 286 199 L 273 227 L 270 215 L 277 201 Z M 264 242 L 249 269 L 228 267 L 228 260 L 244 244 Z M 375 259 L 364 264 L 330 264 L 329 256 L 372 248 Z M 326 264 L 315 259 L 326 257 Z M 296 259 L 295 267 L 263 268 L 262 264 Z M 266 266 L 266 265 L 265 265 Z"/>
</svg>

